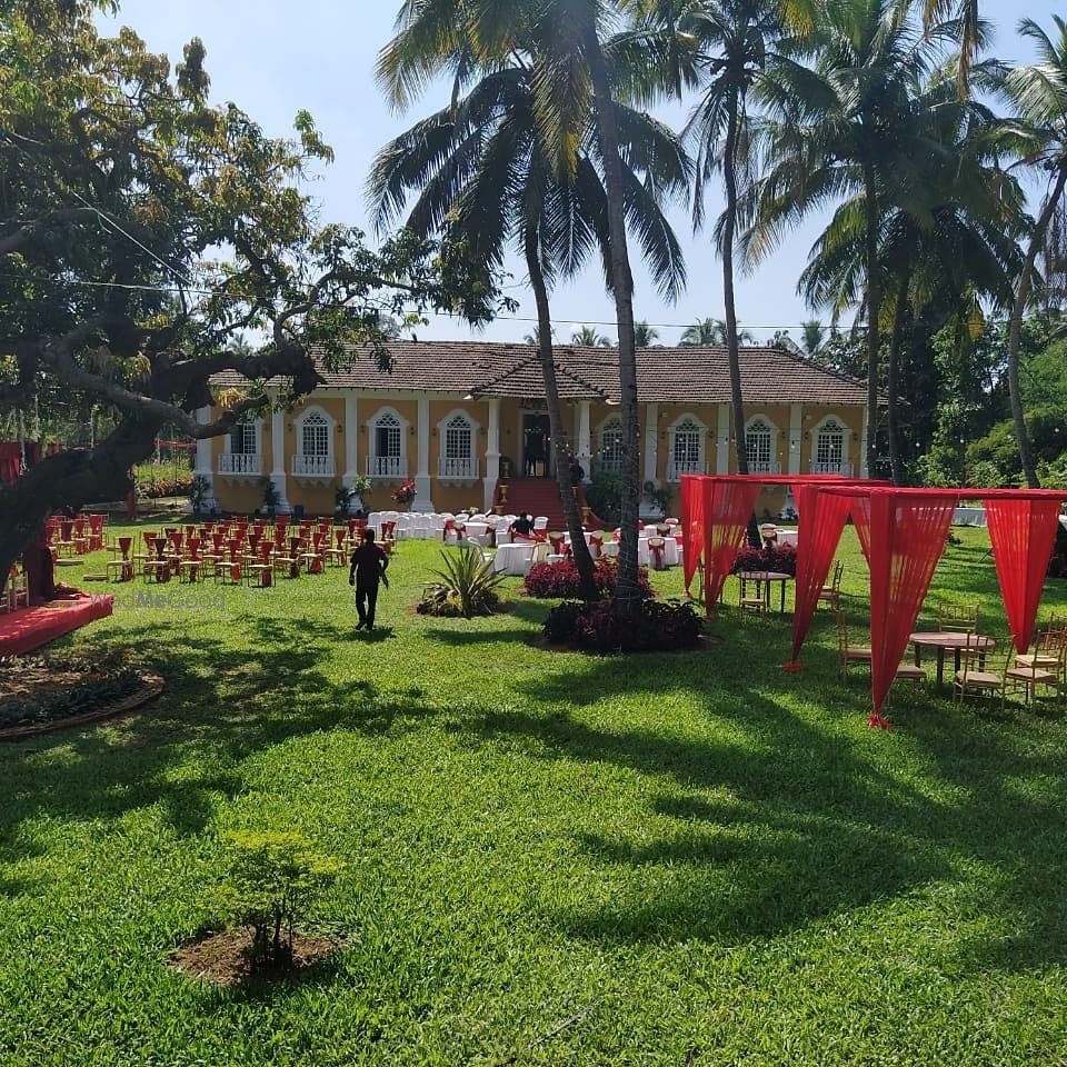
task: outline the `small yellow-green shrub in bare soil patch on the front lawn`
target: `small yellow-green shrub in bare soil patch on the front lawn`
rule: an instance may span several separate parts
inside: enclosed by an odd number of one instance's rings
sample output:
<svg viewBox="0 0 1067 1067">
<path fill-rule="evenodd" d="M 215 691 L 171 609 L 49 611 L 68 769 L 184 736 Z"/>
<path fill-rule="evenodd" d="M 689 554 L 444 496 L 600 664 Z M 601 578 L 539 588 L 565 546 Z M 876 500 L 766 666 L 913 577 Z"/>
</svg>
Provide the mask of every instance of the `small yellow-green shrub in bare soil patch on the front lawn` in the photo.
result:
<svg viewBox="0 0 1067 1067">
<path fill-rule="evenodd" d="M 291 967 L 296 924 L 335 881 L 340 861 L 317 851 L 303 835 L 278 830 L 239 830 L 227 846 L 230 870 L 209 894 L 209 907 L 227 925 L 251 931 L 251 970 Z"/>
</svg>

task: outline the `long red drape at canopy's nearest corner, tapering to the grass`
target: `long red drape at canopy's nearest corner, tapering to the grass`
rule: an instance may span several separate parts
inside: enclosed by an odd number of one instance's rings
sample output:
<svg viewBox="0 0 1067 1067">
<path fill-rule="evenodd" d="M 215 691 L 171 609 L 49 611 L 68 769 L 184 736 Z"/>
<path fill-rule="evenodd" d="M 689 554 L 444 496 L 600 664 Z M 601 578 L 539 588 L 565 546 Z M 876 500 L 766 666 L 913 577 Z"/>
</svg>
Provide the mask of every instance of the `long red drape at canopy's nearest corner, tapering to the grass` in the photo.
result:
<svg viewBox="0 0 1067 1067">
<path fill-rule="evenodd" d="M 956 491 L 870 490 L 872 726 L 888 725 L 881 707 L 945 549 L 958 496 Z"/>
</svg>

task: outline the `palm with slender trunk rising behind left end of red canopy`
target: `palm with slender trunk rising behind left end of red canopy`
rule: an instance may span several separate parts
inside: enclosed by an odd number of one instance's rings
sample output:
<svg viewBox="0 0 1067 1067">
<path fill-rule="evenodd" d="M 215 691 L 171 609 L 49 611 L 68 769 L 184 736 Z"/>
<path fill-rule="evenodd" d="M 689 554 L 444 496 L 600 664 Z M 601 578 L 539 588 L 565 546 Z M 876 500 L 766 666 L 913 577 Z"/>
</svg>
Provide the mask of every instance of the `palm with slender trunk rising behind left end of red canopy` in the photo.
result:
<svg viewBox="0 0 1067 1067">
<path fill-rule="evenodd" d="M 696 146 L 694 222 L 704 219 L 708 181 L 722 172 L 726 209 L 718 226 L 722 259 L 722 300 L 726 308 L 726 348 L 730 369 L 730 405 L 734 426 L 745 426 L 741 366 L 738 348 L 737 308 L 734 299 L 734 246 L 738 220 L 738 170 L 750 139 L 748 98 L 761 73 L 771 42 L 782 33 L 777 6 L 767 0 L 711 0 L 696 6 L 685 30 L 700 42 L 700 100 L 686 133 Z M 737 469 L 748 473 L 745 435 L 734 433 Z"/>
</svg>

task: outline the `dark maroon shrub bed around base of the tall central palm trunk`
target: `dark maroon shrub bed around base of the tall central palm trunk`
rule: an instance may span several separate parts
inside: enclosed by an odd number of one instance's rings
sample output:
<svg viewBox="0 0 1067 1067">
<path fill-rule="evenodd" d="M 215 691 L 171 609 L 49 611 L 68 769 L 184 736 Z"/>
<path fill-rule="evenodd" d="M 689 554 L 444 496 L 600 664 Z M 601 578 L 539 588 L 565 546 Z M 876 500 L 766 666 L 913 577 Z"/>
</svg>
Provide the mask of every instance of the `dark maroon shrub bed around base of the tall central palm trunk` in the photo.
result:
<svg viewBox="0 0 1067 1067">
<path fill-rule="evenodd" d="M 586 652 L 672 652 L 696 648 L 702 620 L 688 601 L 645 600 L 632 618 L 621 619 L 611 600 L 566 600 L 545 620 L 545 637 Z"/>
</svg>

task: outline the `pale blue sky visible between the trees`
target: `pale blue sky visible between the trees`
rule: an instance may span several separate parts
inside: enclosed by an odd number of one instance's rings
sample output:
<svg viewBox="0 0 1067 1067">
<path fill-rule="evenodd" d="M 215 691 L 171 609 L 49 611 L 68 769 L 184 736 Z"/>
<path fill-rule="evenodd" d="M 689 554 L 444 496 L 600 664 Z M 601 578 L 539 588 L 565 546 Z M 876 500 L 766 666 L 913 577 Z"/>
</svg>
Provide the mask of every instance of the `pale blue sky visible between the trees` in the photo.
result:
<svg viewBox="0 0 1067 1067">
<path fill-rule="evenodd" d="M 208 50 L 215 101 L 232 100 L 271 134 L 291 132 L 293 116 L 307 108 L 337 152 L 337 161 L 309 190 L 321 203 L 322 220 L 366 228 L 365 183 L 376 152 L 446 99 L 442 93 L 425 98 L 399 116 L 378 91 L 375 60 L 391 34 L 398 9 L 397 0 L 303 0 L 299 4 L 282 0 L 123 0 L 118 19 L 101 21 L 132 27 L 153 51 L 166 52 L 172 60 L 180 59 L 190 38 L 200 37 Z M 1047 28 L 1050 12 L 1059 10 L 1059 4 L 1028 0 L 1024 11 L 1009 0 L 984 0 L 981 10 L 996 30 L 995 54 L 1025 62 L 1031 56 L 1015 33 L 1018 18 L 1025 13 Z M 677 122 L 682 113 L 675 109 L 666 117 Z M 709 210 L 714 210 L 710 202 Z M 689 268 L 689 287 L 681 299 L 676 305 L 661 300 L 635 260 L 637 316 L 658 326 L 662 343 L 675 342 L 685 325 L 696 318 L 722 317 L 721 266 L 709 238 L 692 235 L 687 208 L 676 208 L 671 217 Z M 819 229 L 820 221 L 812 218 L 791 232 L 755 273 L 738 279 L 738 316 L 757 338 L 776 328 L 790 329 L 796 337 L 799 323 L 811 317 L 796 295 L 796 283 Z M 518 265 L 511 271 L 513 283 L 523 281 Z M 521 301 L 518 319 L 532 317 L 526 289 L 516 288 L 511 295 Z M 569 340 L 574 329 L 567 320 L 608 323 L 598 329 L 615 337 L 610 326 L 614 305 L 594 270 L 561 285 L 552 308 L 561 341 Z M 500 319 L 477 336 L 520 340 L 532 325 L 518 319 Z M 419 332 L 442 339 L 471 336 L 447 318 L 435 319 Z"/>
</svg>

